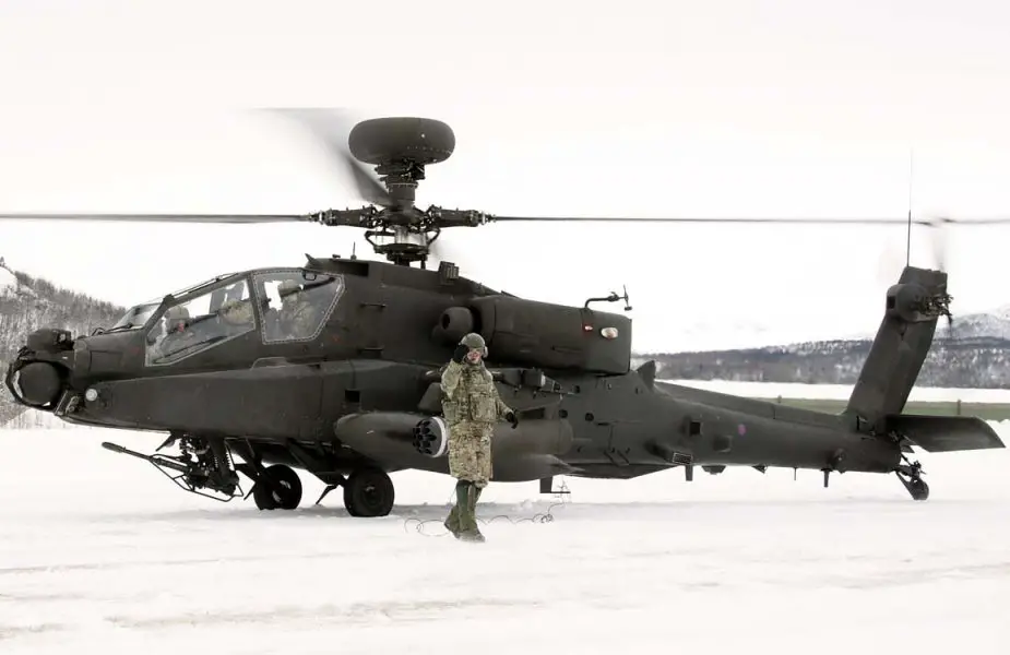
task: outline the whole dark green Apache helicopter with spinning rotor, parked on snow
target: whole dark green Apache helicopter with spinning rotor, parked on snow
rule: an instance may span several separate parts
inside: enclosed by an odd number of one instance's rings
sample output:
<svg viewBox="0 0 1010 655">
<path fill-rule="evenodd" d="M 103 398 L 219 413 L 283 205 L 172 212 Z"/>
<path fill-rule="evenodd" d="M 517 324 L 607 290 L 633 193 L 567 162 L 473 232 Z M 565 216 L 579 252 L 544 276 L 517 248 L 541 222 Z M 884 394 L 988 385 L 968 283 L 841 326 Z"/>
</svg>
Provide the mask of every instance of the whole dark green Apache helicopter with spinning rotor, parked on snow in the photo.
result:
<svg viewBox="0 0 1010 655">
<path fill-rule="evenodd" d="M 299 120 L 310 124 L 306 116 Z M 913 499 L 925 500 L 922 466 L 907 457 L 913 445 L 928 452 L 1003 448 L 977 417 L 902 413 L 939 317 L 951 319 L 946 272 L 905 265 L 887 291 L 876 338 L 839 415 L 657 384 L 654 361 L 631 368 L 631 320 L 591 308 L 623 301 L 630 310 L 627 291 L 555 305 L 487 288 L 447 261 L 426 267 L 432 242 L 449 227 L 629 219 L 420 211 L 414 199 L 426 166 L 455 148 L 448 124 L 366 120 L 346 146 L 321 135 L 370 205 L 305 215 L 0 215 L 314 222 L 365 228 L 388 260 L 307 254 L 302 266 L 219 275 L 138 305 L 91 335 L 39 329 L 7 371 L 14 398 L 71 424 L 167 432 L 151 455 L 103 446 L 154 464 L 187 491 L 223 501 L 251 493 L 261 510 L 293 510 L 302 497 L 299 468 L 325 485 L 317 503 L 342 487 L 353 516 L 389 514 L 392 472 L 448 474 L 440 367 L 470 332 L 486 340 L 487 365 L 519 417 L 514 428 L 496 428 L 494 480 L 539 480 L 544 493 L 554 492 L 558 475 L 628 479 L 682 467 L 691 480 L 700 465 L 711 474 L 726 466 L 817 469 L 824 487 L 832 472 L 894 473 Z M 907 222 L 911 228 L 911 214 Z M 180 454 L 159 452 L 173 445 Z M 239 473 L 252 480 L 249 493 Z"/>
</svg>

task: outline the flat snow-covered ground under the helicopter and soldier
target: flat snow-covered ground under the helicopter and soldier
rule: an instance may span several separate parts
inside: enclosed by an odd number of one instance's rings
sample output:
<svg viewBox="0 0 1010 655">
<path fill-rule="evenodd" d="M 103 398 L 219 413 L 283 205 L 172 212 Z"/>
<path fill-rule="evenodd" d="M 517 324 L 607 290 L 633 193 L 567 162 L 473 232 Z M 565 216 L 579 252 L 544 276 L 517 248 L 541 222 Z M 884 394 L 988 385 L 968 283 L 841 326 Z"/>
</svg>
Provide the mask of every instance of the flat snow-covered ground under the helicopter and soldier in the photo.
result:
<svg viewBox="0 0 1010 655">
<path fill-rule="evenodd" d="M 302 509 L 259 512 L 103 440 L 161 437 L 0 430 L 3 655 L 1010 653 L 1002 450 L 922 455 L 923 503 L 894 476 L 792 469 L 562 478 L 554 508 L 492 485 L 477 545 L 440 525 L 448 477 L 394 474 L 383 519 L 338 490 L 313 507 L 308 476 Z"/>
</svg>

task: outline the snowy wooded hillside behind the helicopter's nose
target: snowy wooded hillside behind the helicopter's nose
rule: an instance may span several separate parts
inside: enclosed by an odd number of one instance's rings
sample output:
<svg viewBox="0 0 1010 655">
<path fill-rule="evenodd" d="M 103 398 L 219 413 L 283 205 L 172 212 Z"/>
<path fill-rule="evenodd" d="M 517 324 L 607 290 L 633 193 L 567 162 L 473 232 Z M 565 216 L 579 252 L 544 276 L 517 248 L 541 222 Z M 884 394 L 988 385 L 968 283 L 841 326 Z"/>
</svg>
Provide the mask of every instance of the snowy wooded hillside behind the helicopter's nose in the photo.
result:
<svg viewBox="0 0 1010 655">
<path fill-rule="evenodd" d="M 47 279 L 11 270 L 0 258 L 0 378 L 8 362 L 38 327 L 64 327 L 76 336 L 112 325 L 126 309 L 61 288 Z M 5 385 L 0 384 L 0 425 L 21 414 Z"/>
</svg>

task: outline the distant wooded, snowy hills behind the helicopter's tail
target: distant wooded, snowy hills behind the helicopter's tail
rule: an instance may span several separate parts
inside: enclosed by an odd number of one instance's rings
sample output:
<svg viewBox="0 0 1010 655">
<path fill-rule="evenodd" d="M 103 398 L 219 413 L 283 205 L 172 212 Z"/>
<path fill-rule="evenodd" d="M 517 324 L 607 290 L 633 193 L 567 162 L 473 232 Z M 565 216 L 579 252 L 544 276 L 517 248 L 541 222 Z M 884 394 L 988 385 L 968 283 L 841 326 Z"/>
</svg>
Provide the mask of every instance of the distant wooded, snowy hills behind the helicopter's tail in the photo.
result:
<svg viewBox="0 0 1010 655">
<path fill-rule="evenodd" d="M 865 338 L 803 342 L 757 348 L 639 355 L 655 359 L 665 380 L 734 380 L 854 384 L 869 353 Z M 923 365 L 920 386 L 1010 389 L 1010 305 L 941 320 Z"/>
</svg>

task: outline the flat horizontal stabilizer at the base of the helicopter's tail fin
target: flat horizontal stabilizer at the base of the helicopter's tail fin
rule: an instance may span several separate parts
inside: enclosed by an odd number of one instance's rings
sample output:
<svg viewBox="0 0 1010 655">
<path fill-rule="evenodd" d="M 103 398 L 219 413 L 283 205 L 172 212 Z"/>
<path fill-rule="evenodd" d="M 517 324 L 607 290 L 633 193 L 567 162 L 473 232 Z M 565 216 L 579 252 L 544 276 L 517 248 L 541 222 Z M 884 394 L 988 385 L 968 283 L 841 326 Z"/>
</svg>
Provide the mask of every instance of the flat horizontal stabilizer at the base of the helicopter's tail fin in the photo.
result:
<svg viewBox="0 0 1010 655">
<path fill-rule="evenodd" d="M 977 416 L 899 414 L 886 419 L 888 431 L 904 434 L 930 453 L 1006 448 L 993 426 Z"/>
</svg>

